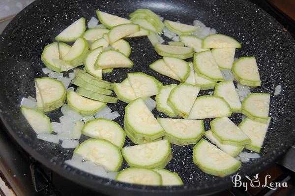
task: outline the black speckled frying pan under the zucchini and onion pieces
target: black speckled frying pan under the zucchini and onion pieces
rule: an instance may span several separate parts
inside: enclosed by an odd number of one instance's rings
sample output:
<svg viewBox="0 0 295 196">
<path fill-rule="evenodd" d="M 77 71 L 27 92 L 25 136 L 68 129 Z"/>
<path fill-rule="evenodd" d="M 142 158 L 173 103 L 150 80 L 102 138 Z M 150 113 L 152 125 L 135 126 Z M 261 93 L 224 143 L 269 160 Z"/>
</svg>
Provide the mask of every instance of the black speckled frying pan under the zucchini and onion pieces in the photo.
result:
<svg viewBox="0 0 295 196">
<path fill-rule="evenodd" d="M 174 158 L 166 167 L 176 171 L 185 186 L 138 186 L 93 176 L 65 165 L 63 161 L 71 158 L 73 151 L 61 148 L 60 144 L 36 139 L 21 114 L 21 99 L 35 95 L 33 79 L 45 76 L 41 70 L 44 67 L 40 60 L 42 50 L 62 29 L 82 16 L 89 20 L 96 9 L 126 17 L 136 8 L 150 8 L 166 19 L 187 24 L 199 19 L 218 33 L 235 37 L 242 43 L 236 57 L 255 56 L 259 65 L 262 86 L 251 91 L 273 93 L 276 85 L 282 85 L 282 93 L 271 96 L 272 122 L 261 158 L 243 163 L 238 170 L 240 175 L 266 169 L 295 142 L 295 41 L 277 21 L 253 4 L 243 0 L 36 0 L 18 14 L 0 36 L 0 118 L 11 136 L 30 155 L 62 176 L 109 195 L 200 195 L 232 186 L 231 176 L 207 175 L 192 162 L 193 145 L 172 145 Z M 104 75 L 106 80 L 121 82 L 127 72 L 142 71 L 155 76 L 164 85 L 176 83 L 148 68 L 160 56 L 147 37 L 128 41 L 132 47 L 130 58 L 134 67 L 115 69 Z M 203 91 L 201 94 L 207 93 Z M 119 101 L 109 106 L 121 115 L 116 122 L 122 126 L 126 104 Z M 154 115 L 164 116 L 156 111 Z M 56 111 L 49 116 L 57 121 L 61 113 Z M 234 114 L 232 120 L 239 123 L 241 114 Z M 82 137 L 81 141 L 85 139 Z M 126 138 L 125 146 L 129 145 L 133 144 Z M 125 167 L 127 164 L 123 163 Z"/>
</svg>

